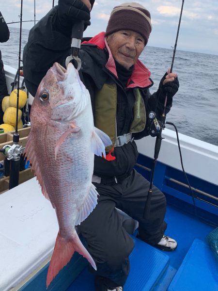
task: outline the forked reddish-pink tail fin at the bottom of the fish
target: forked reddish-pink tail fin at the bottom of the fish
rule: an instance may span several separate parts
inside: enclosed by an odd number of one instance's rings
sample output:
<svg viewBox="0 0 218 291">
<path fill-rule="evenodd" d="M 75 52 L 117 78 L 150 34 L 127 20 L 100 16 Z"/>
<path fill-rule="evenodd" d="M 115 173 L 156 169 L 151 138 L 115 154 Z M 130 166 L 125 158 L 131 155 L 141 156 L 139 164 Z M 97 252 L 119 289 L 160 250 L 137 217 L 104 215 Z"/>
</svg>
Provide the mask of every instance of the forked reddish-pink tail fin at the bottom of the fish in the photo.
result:
<svg viewBox="0 0 218 291">
<path fill-rule="evenodd" d="M 58 233 L 54 251 L 48 267 L 46 280 L 47 288 L 50 285 L 53 278 L 56 275 L 58 275 L 59 271 L 61 271 L 62 268 L 70 261 L 75 251 L 77 251 L 80 255 L 86 258 L 93 266 L 93 268 L 96 270 L 96 265 L 93 258 L 79 240 L 76 231 L 72 239 L 64 239 L 61 237 L 60 233 Z"/>
</svg>

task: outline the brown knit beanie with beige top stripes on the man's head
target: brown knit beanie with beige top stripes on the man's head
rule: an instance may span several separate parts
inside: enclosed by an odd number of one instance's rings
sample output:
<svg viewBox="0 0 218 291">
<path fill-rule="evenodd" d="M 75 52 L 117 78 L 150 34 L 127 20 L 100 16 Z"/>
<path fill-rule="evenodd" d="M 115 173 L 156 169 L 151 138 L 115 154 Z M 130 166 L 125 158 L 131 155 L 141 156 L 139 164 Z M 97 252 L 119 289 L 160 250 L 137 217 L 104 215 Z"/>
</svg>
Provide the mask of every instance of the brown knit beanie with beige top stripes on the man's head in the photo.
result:
<svg viewBox="0 0 218 291">
<path fill-rule="evenodd" d="M 148 42 L 152 31 L 151 15 L 147 9 L 136 2 L 127 2 L 113 8 L 105 35 L 120 30 L 138 32 Z"/>
</svg>

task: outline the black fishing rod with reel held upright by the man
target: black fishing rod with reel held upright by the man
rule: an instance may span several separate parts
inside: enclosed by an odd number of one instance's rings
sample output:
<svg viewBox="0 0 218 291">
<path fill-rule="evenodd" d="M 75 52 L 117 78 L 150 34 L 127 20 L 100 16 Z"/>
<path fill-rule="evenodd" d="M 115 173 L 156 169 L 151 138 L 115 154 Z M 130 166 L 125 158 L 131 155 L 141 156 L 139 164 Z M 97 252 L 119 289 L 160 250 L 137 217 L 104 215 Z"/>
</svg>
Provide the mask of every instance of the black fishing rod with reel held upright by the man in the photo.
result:
<svg viewBox="0 0 218 291">
<path fill-rule="evenodd" d="M 178 36 L 179 36 L 180 23 L 181 23 L 181 19 L 182 19 L 184 1 L 185 0 L 182 0 L 182 7 L 181 7 L 181 11 L 180 11 L 179 24 L 178 24 L 178 29 L 177 29 L 177 33 L 176 33 L 175 45 L 174 45 L 174 48 L 173 48 L 173 56 L 172 56 L 170 72 L 172 72 L 174 59 L 175 59 L 175 53 L 176 53 Z M 153 167 L 152 167 L 152 173 L 151 173 L 151 179 L 150 179 L 150 186 L 149 186 L 147 200 L 146 200 L 146 203 L 145 203 L 144 213 L 143 213 L 143 217 L 145 219 L 149 219 L 149 217 L 150 217 L 151 196 L 152 196 L 152 193 L 153 193 L 153 191 L 152 191 L 153 180 L 154 180 L 154 174 L 155 174 L 155 168 L 156 168 L 156 161 L 157 161 L 157 158 L 158 158 L 158 155 L 159 155 L 160 146 L 161 146 L 161 142 L 162 142 L 162 139 L 163 139 L 161 133 L 162 133 L 162 129 L 164 129 L 164 125 L 165 125 L 165 121 L 166 121 L 167 99 L 168 99 L 168 96 L 166 94 L 166 97 L 165 97 L 165 100 L 164 100 L 164 109 L 163 109 L 162 115 L 159 118 L 160 120 L 156 119 L 156 113 L 155 112 L 150 112 L 149 115 L 148 115 L 148 118 L 150 120 L 150 124 L 152 125 L 152 129 L 150 129 L 150 134 L 151 134 L 151 136 L 156 136 L 156 143 L 155 143 L 155 153 L 154 153 Z"/>
</svg>

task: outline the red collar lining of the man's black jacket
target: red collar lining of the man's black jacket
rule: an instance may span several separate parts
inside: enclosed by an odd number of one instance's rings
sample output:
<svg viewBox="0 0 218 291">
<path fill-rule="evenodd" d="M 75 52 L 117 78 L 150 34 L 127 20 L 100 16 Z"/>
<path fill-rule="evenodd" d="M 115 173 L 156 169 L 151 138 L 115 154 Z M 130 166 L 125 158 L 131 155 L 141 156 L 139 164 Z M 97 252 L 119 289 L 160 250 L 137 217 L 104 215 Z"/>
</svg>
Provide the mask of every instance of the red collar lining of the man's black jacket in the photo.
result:
<svg viewBox="0 0 218 291">
<path fill-rule="evenodd" d="M 89 41 L 84 41 L 82 44 L 93 44 L 98 47 L 98 49 L 108 49 L 109 59 L 105 67 L 117 77 L 116 66 L 112 56 L 112 53 L 109 49 L 107 41 L 105 39 L 105 32 L 100 32 L 91 38 Z M 143 65 L 140 60 L 137 60 L 134 65 L 133 73 L 131 78 L 128 81 L 127 88 L 135 88 L 135 87 L 147 87 L 152 85 L 151 80 L 149 79 L 151 76 L 151 72 Z M 118 77 L 117 77 L 118 78 Z M 131 84 L 129 84 L 131 82 Z"/>
</svg>

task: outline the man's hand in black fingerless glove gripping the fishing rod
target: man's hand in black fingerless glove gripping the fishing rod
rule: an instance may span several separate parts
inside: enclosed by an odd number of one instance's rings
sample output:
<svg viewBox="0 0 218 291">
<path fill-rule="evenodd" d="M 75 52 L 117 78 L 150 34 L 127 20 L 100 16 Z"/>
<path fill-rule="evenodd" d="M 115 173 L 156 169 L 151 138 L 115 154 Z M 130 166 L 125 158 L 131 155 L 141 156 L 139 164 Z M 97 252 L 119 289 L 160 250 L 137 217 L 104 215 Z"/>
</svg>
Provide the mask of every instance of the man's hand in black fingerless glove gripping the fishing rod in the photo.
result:
<svg viewBox="0 0 218 291">
<path fill-rule="evenodd" d="M 171 73 L 170 69 L 160 81 L 159 88 L 169 97 L 173 97 L 179 89 L 179 81 L 176 73 Z"/>
</svg>

